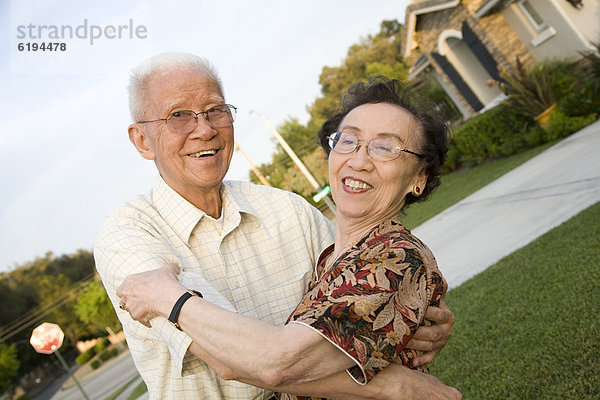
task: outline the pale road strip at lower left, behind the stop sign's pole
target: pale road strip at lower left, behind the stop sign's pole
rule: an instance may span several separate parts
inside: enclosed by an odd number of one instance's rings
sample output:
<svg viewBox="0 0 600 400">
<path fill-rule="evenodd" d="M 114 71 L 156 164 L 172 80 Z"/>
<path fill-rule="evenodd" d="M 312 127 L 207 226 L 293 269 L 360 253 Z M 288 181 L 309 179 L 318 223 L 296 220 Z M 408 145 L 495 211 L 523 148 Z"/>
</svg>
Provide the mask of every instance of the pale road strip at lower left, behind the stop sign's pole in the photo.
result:
<svg viewBox="0 0 600 400">
<path fill-rule="evenodd" d="M 102 400 L 137 375 L 138 372 L 131 355 L 127 351 L 85 378 L 80 378 L 79 383 L 90 400 Z M 68 389 L 60 389 L 52 396 L 51 400 L 81 400 L 83 398 L 77 385 L 73 385 Z"/>
</svg>

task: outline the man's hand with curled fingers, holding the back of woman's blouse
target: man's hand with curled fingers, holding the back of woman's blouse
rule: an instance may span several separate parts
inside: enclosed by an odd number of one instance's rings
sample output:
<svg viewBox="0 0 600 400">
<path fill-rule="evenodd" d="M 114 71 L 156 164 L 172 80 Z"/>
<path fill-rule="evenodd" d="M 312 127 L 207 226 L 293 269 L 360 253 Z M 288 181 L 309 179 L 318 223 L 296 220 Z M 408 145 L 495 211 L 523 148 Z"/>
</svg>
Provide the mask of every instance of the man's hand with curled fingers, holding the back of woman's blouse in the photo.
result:
<svg viewBox="0 0 600 400">
<path fill-rule="evenodd" d="M 452 336 L 454 314 L 446 306 L 443 298 L 439 307 L 427 307 L 425 319 L 434 322 L 434 325 L 420 326 L 406 345 L 409 349 L 424 351 L 421 356 L 413 360 L 415 367 L 430 364 Z"/>
</svg>

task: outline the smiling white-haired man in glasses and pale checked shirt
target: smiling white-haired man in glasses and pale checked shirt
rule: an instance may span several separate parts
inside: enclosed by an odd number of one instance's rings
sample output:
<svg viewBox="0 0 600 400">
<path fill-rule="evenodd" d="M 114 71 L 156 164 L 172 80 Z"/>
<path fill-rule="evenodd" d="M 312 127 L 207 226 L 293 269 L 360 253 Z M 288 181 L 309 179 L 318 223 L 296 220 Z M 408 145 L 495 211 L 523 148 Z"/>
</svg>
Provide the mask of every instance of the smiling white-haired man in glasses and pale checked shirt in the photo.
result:
<svg viewBox="0 0 600 400">
<path fill-rule="evenodd" d="M 94 254 L 150 398 L 269 398 L 268 390 L 222 379 L 191 338 L 166 319 L 154 319 L 151 328 L 133 321 L 118 309 L 116 289 L 128 275 L 175 263 L 210 282 L 237 312 L 281 325 L 302 298 L 315 258 L 333 240 L 331 224 L 293 193 L 223 181 L 234 151 L 236 109 L 225 103 L 206 61 L 158 55 L 133 70 L 129 89 L 135 121 L 129 138 L 160 176 L 149 194 L 107 218 Z M 438 325 L 421 332 L 425 342 L 414 341 L 433 348 L 421 362 L 439 352 L 453 323 L 447 309 L 428 317 Z M 366 386 L 340 373 L 313 387 L 321 396 L 347 392 L 353 398 L 456 394 L 429 375 L 396 365 Z M 439 397 L 429 397 L 433 393 Z"/>
</svg>

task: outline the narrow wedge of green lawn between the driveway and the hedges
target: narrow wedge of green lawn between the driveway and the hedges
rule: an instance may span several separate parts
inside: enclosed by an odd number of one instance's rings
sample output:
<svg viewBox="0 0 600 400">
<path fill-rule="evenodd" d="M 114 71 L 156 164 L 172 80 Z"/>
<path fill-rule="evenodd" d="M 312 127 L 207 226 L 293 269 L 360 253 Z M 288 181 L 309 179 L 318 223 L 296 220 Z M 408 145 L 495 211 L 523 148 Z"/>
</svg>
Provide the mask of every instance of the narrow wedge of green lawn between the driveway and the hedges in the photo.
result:
<svg viewBox="0 0 600 400">
<path fill-rule="evenodd" d="M 408 207 L 406 215 L 401 218 L 404 226 L 412 229 L 422 224 L 555 143 L 547 143 L 511 157 L 444 175 L 442 184 L 433 192 L 430 199 Z"/>
</svg>

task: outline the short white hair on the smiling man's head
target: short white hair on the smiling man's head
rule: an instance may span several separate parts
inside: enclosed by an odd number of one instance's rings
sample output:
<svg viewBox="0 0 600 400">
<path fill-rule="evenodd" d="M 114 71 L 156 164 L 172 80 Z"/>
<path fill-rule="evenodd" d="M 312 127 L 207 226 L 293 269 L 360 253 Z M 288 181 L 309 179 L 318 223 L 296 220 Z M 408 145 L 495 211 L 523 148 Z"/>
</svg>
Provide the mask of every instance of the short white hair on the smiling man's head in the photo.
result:
<svg viewBox="0 0 600 400">
<path fill-rule="evenodd" d="M 148 82 L 158 72 L 201 71 L 206 73 L 223 93 L 223 84 L 214 67 L 204 58 L 189 53 L 161 53 L 142 61 L 129 76 L 129 112 L 133 121 L 141 121 L 148 106 Z"/>
</svg>

